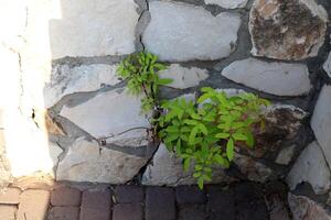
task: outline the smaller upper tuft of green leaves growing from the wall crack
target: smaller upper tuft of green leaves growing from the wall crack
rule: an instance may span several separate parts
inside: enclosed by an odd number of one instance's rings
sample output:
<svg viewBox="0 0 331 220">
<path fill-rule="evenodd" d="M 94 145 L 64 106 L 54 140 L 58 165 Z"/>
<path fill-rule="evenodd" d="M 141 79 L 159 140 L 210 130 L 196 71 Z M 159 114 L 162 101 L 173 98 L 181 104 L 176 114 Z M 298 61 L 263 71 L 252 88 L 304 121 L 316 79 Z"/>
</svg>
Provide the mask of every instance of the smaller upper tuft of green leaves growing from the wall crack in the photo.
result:
<svg viewBox="0 0 331 220">
<path fill-rule="evenodd" d="M 141 98 L 141 112 L 147 113 L 158 106 L 159 86 L 170 84 L 171 79 L 161 79 L 159 70 L 166 69 L 166 65 L 158 62 L 158 56 L 148 52 L 129 55 L 117 68 L 117 75 L 128 80 L 129 94 Z"/>
</svg>

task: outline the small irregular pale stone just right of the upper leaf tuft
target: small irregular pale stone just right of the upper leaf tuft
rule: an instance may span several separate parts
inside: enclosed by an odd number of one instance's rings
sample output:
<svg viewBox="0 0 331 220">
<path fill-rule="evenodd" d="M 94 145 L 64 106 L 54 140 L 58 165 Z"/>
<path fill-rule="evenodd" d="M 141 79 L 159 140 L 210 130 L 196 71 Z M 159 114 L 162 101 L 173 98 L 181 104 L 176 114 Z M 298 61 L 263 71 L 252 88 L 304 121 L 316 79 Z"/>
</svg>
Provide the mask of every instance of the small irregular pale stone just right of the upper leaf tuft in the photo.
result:
<svg viewBox="0 0 331 220">
<path fill-rule="evenodd" d="M 179 64 L 171 64 L 166 70 L 159 72 L 160 78 L 173 79 L 168 87 L 186 89 L 190 87 L 197 86 L 200 81 L 209 77 L 206 69 L 196 67 L 185 68 Z"/>
</svg>

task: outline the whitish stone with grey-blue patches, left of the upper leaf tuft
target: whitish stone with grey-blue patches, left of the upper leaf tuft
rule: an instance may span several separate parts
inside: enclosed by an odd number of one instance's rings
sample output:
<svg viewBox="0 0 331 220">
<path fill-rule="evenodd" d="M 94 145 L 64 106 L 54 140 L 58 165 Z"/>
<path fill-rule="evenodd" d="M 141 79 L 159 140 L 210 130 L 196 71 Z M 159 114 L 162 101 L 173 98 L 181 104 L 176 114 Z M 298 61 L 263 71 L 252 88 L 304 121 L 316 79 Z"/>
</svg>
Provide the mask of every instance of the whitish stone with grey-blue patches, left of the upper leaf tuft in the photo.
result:
<svg viewBox="0 0 331 220">
<path fill-rule="evenodd" d="M 45 107 L 54 106 L 62 97 L 85 91 L 95 91 L 104 86 L 119 82 L 116 65 L 94 64 L 71 68 L 68 65 L 54 67 L 50 82 L 44 88 Z"/>
</svg>

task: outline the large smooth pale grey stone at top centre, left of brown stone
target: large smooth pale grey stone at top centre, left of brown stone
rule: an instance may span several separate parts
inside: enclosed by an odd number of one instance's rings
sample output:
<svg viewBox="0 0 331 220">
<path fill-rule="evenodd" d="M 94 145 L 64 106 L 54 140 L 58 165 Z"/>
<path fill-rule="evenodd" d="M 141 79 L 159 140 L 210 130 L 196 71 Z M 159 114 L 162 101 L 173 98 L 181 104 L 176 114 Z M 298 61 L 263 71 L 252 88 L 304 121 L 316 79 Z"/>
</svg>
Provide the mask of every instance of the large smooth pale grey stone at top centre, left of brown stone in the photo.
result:
<svg viewBox="0 0 331 220">
<path fill-rule="evenodd" d="M 220 59 L 236 45 L 241 18 L 223 12 L 212 15 L 202 7 L 152 1 L 151 21 L 142 42 L 163 61 Z"/>
</svg>

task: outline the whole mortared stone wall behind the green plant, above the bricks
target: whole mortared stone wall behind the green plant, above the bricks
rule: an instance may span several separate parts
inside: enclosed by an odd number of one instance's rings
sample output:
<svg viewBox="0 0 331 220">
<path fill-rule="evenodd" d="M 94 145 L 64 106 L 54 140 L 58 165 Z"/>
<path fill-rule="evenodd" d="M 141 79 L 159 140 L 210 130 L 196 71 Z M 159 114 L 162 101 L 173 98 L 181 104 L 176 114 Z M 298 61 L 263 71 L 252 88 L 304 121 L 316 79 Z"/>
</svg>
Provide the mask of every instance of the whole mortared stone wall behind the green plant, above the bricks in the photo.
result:
<svg viewBox="0 0 331 220">
<path fill-rule="evenodd" d="M 146 50 L 169 64 L 163 98 L 211 86 L 271 100 L 255 148 L 213 183 L 284 179 L 295 219 L 330 219 L 330 0 L 0 2 L 0 183 L 194 184 L 116 77 Z"/>
</svg>

